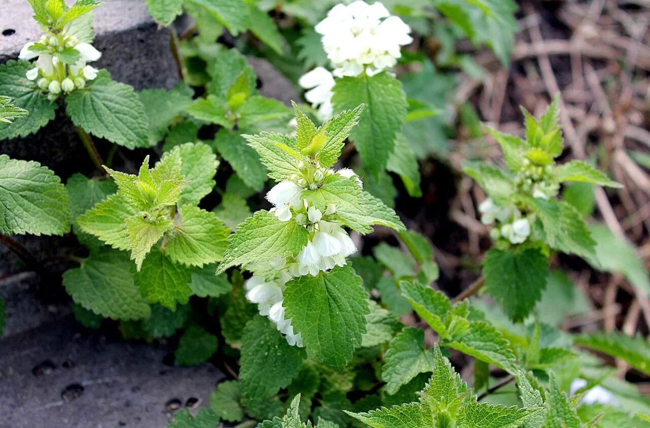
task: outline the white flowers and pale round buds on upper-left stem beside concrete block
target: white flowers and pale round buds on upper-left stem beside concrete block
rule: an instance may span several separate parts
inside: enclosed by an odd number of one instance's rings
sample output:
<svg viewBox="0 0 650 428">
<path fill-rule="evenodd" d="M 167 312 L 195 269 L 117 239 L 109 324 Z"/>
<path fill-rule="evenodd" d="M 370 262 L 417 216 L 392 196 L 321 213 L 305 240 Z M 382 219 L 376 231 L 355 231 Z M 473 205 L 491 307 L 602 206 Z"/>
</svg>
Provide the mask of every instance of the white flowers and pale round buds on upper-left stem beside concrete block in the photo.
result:
<svg viewBox="0 0 650 428">
<path fill-rule="evenodd" d="M 40 49 L 32 50 L 36 47 Z M 64 64 L 55 55 L 70 47 L 79 52 L 79 60 L 72 65 Z M 53 100 L 62 92 L 70 94 L 73 90 L 86 86 L 86 81 L 95 79 L 98 69 L 87 63 L 98 60 L 101 52 L 89 43 L 77 42 L 75 36 L 68 36 L 63 30 L 52 36 L 44 34 L 38 42 L 29 42 L 18 55 L 19 59 L 28 61 L 36 57 L 38 59 L 34 62 L 35 67 L 29 69 L 25 75 L 27 79 L 36 81 L 38 87 L 47 92 L 47 97 Z"/>
</svg>

